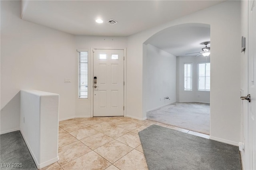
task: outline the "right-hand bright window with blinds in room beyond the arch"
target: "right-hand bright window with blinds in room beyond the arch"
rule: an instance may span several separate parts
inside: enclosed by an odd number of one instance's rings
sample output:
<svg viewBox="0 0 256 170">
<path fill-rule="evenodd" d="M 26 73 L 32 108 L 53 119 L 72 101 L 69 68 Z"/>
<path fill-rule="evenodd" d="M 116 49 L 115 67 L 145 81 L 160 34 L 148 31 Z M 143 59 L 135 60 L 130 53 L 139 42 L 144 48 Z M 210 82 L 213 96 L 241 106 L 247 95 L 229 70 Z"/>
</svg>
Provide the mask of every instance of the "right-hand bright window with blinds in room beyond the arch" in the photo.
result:
<svg viewBox="0 0 256 170">
<path fill-rule="evenodd" d="M 198 64 L 198 90 L 210 91 L 210 63 Z"/>
</svg>

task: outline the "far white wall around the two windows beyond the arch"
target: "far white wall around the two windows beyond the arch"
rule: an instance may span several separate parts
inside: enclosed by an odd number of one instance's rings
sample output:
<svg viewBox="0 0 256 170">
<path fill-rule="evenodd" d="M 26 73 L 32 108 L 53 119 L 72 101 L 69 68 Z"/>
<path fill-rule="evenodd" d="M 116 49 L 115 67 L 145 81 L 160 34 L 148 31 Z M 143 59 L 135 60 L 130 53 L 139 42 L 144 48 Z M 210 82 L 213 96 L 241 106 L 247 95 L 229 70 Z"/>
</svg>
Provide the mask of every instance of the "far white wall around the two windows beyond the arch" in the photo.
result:
<svg viewBox="0 0 256 170">
<path fill-rule="evenodd" d="M 210 92 L 198 91 L 198 63 L 209 62 L 210 57 L 202 55 L 177 57 L 177 101 L 210 103 Z M 184 63 L 192 63 L 192 91 L 184 90 Z"/>
</svg>

